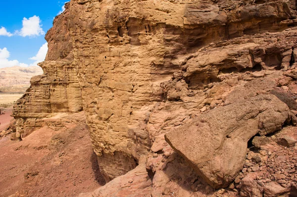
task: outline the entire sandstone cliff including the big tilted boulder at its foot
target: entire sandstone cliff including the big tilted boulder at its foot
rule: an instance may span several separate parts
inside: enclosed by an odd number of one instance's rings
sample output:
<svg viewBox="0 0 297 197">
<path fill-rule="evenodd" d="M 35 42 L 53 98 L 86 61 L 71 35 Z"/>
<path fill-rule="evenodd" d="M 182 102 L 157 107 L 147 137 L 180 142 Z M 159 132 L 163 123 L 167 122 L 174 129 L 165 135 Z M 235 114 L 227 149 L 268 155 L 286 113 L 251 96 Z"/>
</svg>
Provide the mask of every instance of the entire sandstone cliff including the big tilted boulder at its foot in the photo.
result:
<svg viewBox="0 0 297 197">
<path fill-rule="evenodd" d="M 271 194 L 272 172 L 252 170 L 269 147 L 246 156 L 254 136 L 296 125 L 296 18 L 294 0 L 71 0 L 14 108 L 17 132 L 82 102 L 110 181 L 93 196 Z M 270 179 L 286 194 L 289 171 Z"/>
</svg>

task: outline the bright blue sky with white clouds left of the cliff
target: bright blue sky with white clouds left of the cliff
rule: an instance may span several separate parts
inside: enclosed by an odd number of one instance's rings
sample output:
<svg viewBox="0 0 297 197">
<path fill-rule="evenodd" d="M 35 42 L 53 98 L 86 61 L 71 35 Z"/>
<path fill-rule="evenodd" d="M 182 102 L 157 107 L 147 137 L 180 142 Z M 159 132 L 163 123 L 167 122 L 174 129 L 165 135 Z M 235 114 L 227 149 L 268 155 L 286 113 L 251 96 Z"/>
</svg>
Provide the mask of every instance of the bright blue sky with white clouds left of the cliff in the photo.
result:
<svg viewBox="0 0 297 197">
<path fill-rule="evenodd" d="M 69 1 L 69 0 L 68 0 Z M 0 68 L 37 66 L 44 61 L 45 34 L 66 0 L 1 0 Z"/>
</svg>

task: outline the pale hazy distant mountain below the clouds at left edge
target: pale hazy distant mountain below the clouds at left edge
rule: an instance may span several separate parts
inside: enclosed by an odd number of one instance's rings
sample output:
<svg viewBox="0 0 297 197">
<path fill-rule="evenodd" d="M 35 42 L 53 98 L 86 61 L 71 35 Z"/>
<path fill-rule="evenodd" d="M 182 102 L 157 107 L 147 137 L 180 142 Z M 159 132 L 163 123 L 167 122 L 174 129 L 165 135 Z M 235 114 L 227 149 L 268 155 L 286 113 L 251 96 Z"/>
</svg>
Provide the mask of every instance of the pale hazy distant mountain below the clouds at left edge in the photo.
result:
<svg viewBox="0 0 297 197">
<path fill-rule="evenodd" d="M 14 66 L 0 69 L 0 92 L 24 92 L 33 76 L 43 74 L 42 68 Z"/>
</svg>

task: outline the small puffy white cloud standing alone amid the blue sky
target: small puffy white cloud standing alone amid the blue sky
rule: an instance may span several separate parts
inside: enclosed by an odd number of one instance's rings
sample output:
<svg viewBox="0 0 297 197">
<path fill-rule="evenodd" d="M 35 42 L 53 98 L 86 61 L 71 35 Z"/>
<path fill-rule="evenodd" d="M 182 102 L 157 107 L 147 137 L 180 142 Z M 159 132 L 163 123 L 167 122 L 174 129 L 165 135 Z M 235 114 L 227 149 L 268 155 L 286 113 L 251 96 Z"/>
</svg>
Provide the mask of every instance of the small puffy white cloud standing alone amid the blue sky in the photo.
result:
<svg viewBox="0 0 297 197">
<path fill-rule="evenodd" d="M 35 37 L 45 35 L 45 32 L 42 29 L 39 16 L 32 16 L 29 19 L 23 18 L 23 28 L 20 31 L 16 31 L 15 34 L 22 37 Z"/>
</svg>

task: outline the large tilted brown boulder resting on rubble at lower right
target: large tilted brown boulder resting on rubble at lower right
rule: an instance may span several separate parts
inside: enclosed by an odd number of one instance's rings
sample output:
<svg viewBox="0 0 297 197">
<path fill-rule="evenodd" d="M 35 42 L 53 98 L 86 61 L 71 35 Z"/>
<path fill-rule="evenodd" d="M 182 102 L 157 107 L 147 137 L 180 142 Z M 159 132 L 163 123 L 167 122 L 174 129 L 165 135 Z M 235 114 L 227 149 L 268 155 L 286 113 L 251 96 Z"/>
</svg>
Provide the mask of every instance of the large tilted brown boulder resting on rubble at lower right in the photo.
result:
<svg viewBox="0 0 297 197">
<path fill-rule="evenodd" d="M 165 140 L 208 184 L 224 188 L 243 168 L 248 140 L 281 129 L 291 117 L 276 96 L 260 94 L 193 118 Z"/>
</svg>

